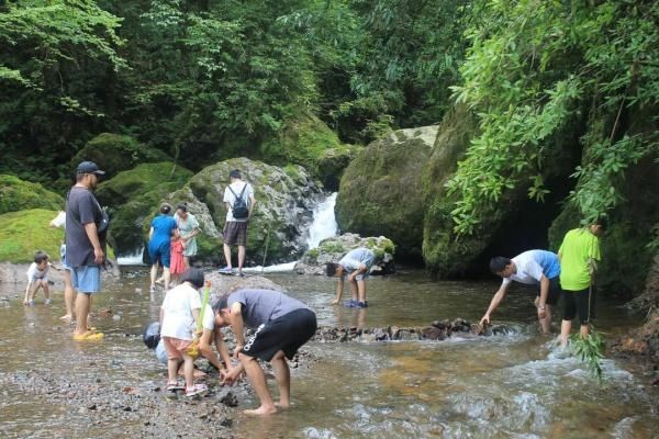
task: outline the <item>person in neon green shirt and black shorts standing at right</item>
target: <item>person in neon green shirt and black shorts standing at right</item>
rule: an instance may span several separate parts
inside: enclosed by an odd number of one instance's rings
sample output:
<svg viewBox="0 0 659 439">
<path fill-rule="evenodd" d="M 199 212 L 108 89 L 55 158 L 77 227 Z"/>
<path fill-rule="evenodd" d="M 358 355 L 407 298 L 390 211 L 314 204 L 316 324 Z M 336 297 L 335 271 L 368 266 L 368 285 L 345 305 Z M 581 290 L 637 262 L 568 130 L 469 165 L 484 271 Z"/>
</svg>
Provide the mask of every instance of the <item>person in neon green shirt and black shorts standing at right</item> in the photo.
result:
<svg viewBox="0 0 659 439">
<path fill-rule="evenodd" d="M 560 325 L 560 344 L 568 344 L 572 319 L 579 313 L 582 337 L 589 333 L 594 317 L 594 292 L 596 263 L 600 261 L 600 236 L 604 233 L 604 218 L 587 227 L 568 232 L 558 250 L 560 260 L 560 285 L 563 291 L 563 319 Z"/>
</svg>

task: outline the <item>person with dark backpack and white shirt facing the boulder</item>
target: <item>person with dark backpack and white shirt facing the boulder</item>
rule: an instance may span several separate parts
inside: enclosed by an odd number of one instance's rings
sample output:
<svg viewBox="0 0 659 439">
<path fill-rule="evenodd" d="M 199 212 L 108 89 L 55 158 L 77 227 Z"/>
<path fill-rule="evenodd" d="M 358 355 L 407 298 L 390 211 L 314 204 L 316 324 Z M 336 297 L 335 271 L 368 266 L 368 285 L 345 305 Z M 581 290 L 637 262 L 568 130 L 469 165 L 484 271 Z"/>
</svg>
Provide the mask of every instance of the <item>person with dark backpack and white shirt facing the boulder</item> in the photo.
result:
<svg viewBox="0 0 659 439">
<path fill-rule="evenodd" d="M 223 274 L 233 274 L 231 263 L 231 247 L 238 246 L 238 271 L 236 275 L 243 274 L 245 263 L 245 247 L 247 244 L 247 223 L 252 217 L 256 199 L 252 184 L 243 181 L 241 171 L 234 169 L 228 175 L 231 183 L 224 190 L 224 203 L 226 203 L 226 223 L 222 232 L 224 239 L 224 259 L 226 267 L 220 269 Z"/>
</svg>

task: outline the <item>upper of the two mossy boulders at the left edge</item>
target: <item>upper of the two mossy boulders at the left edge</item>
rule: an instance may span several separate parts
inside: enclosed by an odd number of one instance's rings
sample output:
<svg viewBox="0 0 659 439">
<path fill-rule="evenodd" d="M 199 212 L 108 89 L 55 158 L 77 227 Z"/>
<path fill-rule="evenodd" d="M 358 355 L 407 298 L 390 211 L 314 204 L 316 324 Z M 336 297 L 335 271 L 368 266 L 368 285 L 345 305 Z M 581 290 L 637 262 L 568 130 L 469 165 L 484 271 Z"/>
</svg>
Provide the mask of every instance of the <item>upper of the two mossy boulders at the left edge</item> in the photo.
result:
<svg viewBox="0 0 659 439">
<path fill-rule="evenodd" d="M 40 183 L 0 175 L 0 214 L 30 209 L 63 210 L 64 199 Z"/>
</svg>

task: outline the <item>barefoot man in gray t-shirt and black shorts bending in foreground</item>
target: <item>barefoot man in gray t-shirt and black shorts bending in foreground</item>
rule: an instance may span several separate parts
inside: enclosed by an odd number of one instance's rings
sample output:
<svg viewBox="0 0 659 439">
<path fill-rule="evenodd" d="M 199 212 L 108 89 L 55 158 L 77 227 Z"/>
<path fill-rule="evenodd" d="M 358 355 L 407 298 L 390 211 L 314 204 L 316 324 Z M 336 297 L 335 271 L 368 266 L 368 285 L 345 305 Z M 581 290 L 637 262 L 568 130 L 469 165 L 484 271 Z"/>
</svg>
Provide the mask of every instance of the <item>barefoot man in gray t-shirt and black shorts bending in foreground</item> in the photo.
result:
<svg viewBox="0 0 659 439">
<path fill-rule="evenodd" d="M 298 349 L 315 334 L 316 316 L 297 299 L 272 290 L 238 290 L 221 297 L 215 306 L 215 324 L 231 325 L 236 338 L 234 356 L 241 364 L 223 373 L 223 383 L 233 384 L 245 370 L 260 406 L 245 410 L 252 415 L 277 412 L 268 391 L 266 375 L 257 359 L 269 361 L 275 371 L 281 408 L 290 407 L 290 370 L 287 358 L 292 359 Z M 255 328 L 245 342 L 245 327 Z"/>
</svg>

